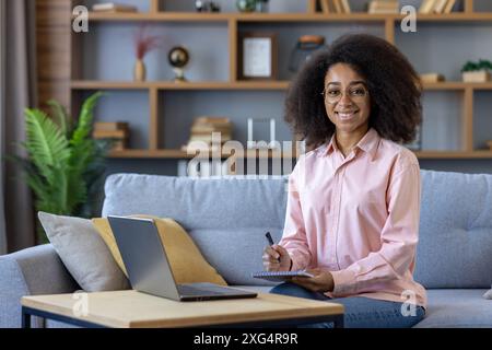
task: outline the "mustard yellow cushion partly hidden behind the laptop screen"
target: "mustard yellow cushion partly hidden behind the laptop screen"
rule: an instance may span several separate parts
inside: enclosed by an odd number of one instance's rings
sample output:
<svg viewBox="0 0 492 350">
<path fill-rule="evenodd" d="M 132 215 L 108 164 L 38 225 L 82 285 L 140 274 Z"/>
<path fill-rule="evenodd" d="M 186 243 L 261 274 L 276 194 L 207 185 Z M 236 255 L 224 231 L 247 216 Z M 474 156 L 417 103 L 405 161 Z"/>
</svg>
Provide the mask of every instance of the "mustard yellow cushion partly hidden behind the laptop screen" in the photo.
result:
<svg viewBox="0 0 492 350">
<path fill-rule="evenodd" d="M 215 269 L 210 266 L 209 262 L 206 261 L 194 241 L 176 221 L 149 215 L 132 217 L 154 220 L 176 283 L 209 282 L 226 285 L 224 279 L 216 273 Z M 93 219 L 92 221 L 112 252 L 116 262 L 125 275 L 128 276 L 109 221 L 104 218 Z M 138 232 L 136 234 L 138 234 Z M 145 254 L 145 252 L 140 252 L 140 254 Z"/>
</svg>

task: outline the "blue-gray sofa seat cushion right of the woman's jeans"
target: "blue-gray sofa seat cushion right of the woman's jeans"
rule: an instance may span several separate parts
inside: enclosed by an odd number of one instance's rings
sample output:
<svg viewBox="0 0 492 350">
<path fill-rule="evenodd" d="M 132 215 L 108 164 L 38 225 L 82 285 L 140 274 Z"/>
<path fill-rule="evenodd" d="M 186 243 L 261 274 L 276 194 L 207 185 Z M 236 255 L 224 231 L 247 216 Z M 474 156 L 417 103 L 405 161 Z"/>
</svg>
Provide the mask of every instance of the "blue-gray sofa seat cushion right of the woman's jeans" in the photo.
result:
<svg viewBox="0 0 492 350">
<path fill-rule="evenodd" d="M 492 301 L 483 289 L 427 290 L 425 318 L 417 328 L 491 328 Z"/>
</svg>

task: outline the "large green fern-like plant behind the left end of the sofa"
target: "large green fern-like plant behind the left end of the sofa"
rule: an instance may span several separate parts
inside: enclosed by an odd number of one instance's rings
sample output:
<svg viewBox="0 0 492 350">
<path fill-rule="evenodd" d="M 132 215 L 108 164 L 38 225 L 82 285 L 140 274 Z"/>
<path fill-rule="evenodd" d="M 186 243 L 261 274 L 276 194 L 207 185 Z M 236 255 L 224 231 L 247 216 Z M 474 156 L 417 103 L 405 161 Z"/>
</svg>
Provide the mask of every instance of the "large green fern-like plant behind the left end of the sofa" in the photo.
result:
<svg viewBox="0 0 492 350">
<path fill-rule="evenodd" d="M 104 173 L 107 141 L 93 140 L 93 109 L 101 97 L 97 92 L 82 105 L 77 124 L 72 125 L 65 108 L 48 102 L 52 116 L 37 108 L 25 109 L 26 140 L 21 145 L 26 158 L 10 156 L 23 168 L 23 178 L 34 192 L 36 211 L 90 218 L 89 199 L 96 195 Z M 57 120 L 57 122 L 55 122 Z M 40 225 L 38 242 L 47 238 Z"/>
</svg>

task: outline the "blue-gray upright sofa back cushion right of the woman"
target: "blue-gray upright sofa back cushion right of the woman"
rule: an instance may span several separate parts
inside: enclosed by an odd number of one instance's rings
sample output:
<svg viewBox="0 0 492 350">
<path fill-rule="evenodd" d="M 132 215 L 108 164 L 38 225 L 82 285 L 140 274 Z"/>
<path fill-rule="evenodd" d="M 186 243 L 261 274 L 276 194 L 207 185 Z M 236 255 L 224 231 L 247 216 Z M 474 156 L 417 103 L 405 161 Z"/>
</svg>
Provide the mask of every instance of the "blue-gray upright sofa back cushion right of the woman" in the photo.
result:
<svg viewBox="0 0 492 350">
<path fill-rule="evenodd" d="M 492 283 L 492 175 L 422 171 L 415 280 L 426 288 Z"/>
</svg>

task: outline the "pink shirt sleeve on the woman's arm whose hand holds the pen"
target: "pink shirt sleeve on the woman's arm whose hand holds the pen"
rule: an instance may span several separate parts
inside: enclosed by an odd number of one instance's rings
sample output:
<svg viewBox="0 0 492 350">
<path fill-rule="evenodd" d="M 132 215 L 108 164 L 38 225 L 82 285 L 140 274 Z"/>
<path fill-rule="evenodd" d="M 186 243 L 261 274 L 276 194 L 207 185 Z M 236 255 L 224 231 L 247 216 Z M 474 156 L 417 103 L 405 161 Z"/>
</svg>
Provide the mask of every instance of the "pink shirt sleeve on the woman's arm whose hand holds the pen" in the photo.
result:
<svg viewBox="0 0 492 350">
<path fill-rule="evenodd" d="M 285 224 L 280 245 L 283 246 L 291 256 L 291 270 L 305 269 L 311 262 L 311 252 L 306 240 L 303 211 L 300 200 L 300 183 L 302 180 L 303 159 L 300 158 L 292 174 L 289 176 L 288 203 L 285 213 Z"/>
</svg>

